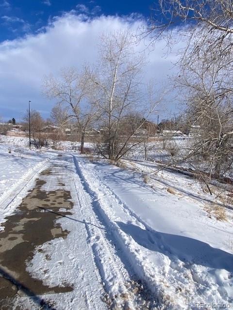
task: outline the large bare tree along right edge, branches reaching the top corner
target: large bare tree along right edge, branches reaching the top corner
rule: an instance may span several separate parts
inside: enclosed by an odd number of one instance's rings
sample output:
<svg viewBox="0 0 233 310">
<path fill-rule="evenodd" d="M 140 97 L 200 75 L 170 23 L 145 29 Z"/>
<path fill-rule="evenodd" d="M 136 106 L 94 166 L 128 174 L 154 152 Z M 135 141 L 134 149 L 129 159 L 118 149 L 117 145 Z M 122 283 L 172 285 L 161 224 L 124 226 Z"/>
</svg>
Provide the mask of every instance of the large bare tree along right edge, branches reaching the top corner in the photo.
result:
<svg viewBox="0 0 233 310">
<path fill-rule="evenodd" d="M 186 43 L 179 51 L 180 73 L 174 84 L 189 128 L 199 130 L 180 159 L 208 185 L 212 177 L 224 178 L 233 163 L 233 3 L 160 0 L 157 9 L 160 15 L 153 15 L 145 32 L 151 42 L 165 35 L 170 46 L 177 37 Z"/>
</svg>

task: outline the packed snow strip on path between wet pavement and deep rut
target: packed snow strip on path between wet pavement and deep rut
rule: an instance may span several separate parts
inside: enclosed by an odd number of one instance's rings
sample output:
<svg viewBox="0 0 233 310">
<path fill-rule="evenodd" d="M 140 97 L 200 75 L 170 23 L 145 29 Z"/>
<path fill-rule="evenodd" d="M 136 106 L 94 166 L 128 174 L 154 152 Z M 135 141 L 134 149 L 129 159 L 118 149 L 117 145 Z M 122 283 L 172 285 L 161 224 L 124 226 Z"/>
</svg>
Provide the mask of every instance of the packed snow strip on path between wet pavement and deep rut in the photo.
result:
<svg viewBox="0 0 233 310">
<path fill-rule="evenodd" d="M 116 307 L 113 309 L 139 310 L 146 301 L 143 296 L 133 294 L 135 283 L 130 281 L 128 269 L 116 255 L 114 236 L 98 214 L 92 195 L 85 190 L 76 159 L 73 157 L 71 161 L 70 157 L 64 153 L 55 168 L 59 182 L 50 175 L 42 187 L 46 191 L 61 189 L 62 181 L 63 189 L 70 191 L 74 202 L 72 214 L 56 221 L 69 233 L 66 239 L 55 238 L 39 246 L 27 263 L 27 270 L 50 287 L 61 283 L 72 285 L 72 292 L 41 296 L 54 301 L 57 310 L 100 310 L 107 309 L 107 305 Z M 134 307 L 135 304 L 139 307 Z"/>
</svg>

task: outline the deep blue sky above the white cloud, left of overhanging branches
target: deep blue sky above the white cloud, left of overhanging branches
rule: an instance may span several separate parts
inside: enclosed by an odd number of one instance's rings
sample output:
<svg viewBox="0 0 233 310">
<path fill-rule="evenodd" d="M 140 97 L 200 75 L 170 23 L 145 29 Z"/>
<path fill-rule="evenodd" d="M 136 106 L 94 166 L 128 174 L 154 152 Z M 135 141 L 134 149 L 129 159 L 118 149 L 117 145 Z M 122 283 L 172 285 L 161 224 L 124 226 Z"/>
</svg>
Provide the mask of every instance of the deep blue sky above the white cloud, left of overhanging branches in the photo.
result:
<svg viewBox="0 0 233 310">
<path fill-rule="evenodd" d="M 0 0 L 0 41 L 36 33 L 54 16 L 76 10 L 89 15 L 150 16 L 153 0 Z"/>
</svg>

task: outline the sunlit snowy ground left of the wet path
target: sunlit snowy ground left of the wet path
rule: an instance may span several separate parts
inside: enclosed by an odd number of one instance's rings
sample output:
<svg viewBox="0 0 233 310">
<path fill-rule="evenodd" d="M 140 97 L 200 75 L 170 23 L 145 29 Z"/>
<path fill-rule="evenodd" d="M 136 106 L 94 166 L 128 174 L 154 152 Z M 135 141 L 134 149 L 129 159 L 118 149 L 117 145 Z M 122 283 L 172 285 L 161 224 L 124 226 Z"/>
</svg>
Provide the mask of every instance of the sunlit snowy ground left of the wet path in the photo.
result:
<svg viewBox="0 0 233 310">
<path fill-rule="evenodd" d="M 35 180 L 37 174 L 47 167 L 50 159 L 57 156 L 54 152 L 19 147 L 16 144 L 18 139 L 10 139 L 12 143 L 0 143 L 0 223 L 14 211 L 33 186 L 30 181 Z"/>
</svg>

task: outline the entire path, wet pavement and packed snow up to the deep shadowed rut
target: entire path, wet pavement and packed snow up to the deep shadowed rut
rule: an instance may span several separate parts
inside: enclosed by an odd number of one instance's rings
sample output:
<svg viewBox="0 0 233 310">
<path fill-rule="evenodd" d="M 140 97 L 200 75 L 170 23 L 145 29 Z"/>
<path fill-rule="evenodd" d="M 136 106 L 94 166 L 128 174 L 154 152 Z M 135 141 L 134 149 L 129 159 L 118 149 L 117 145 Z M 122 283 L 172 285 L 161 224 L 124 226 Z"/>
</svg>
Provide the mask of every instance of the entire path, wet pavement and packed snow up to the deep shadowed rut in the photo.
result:
<svg viewBox="0 0 233 310">
<path fill-rule="evenodd" d="M 114 235 L 96 215 L 96 202 L 79 173 L 74 156 L 50 159 L 16 212 L 2 223 L 0 305 L 7 309 L 41 309 L 42 304 L 56 310 L 141 309 L 153 304 L 116 255 Z"/>
</svg>

